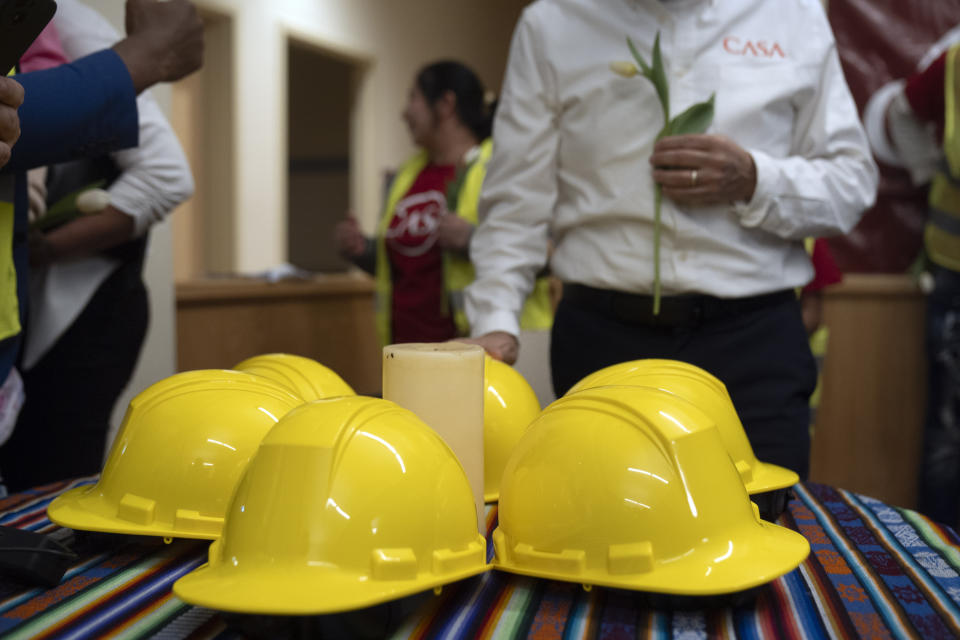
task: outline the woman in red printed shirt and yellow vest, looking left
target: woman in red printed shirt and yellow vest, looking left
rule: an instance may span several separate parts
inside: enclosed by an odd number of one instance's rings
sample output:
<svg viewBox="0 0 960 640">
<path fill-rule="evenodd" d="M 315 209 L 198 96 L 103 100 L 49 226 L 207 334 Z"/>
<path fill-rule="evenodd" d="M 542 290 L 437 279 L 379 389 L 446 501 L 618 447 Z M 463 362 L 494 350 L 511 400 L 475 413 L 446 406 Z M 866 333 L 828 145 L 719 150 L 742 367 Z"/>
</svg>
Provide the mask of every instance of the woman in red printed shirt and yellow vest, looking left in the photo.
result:
<svg viewBox="0 0 960 640">
<path fill-rule="evenodd" d="M 376 238 L 365 237 L 352 216 L 337 227 L 341 255 L 376 278 L 381 344 L 443 342 L 469 332 L 462 298 L 474 278 L 467 252 L 492 151 L 490 112 L 483 85 L 465 65 L 421 69 L 403 110 L 420 150 L 394 177 Z M 523 314 L 525 328 L 550 326 L 546 278 Z"/>
</svg>

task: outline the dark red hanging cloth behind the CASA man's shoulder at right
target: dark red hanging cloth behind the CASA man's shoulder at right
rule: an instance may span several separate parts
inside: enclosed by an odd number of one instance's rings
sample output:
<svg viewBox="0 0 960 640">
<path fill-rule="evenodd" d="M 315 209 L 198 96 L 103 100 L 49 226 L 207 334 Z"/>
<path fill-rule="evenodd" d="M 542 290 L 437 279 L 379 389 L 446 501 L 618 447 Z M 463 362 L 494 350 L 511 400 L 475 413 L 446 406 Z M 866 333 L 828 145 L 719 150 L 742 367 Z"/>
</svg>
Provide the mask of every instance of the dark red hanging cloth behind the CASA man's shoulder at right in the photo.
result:
<svg viewBox="0 0 960 640">
<path fill-rule="evenodd" d="M 776 0 L 770 0 L 776 1 Z M 944 33 L 960 24 L 960 0 L 829 0 L 840 60 L 861 114 L 874 91 L 909 75 Z M 900 272 L 920 251 L 926 192 L 880 164 L 877 205 L 850 234 L 831 238 L 846 272 Z"/>
</svg>

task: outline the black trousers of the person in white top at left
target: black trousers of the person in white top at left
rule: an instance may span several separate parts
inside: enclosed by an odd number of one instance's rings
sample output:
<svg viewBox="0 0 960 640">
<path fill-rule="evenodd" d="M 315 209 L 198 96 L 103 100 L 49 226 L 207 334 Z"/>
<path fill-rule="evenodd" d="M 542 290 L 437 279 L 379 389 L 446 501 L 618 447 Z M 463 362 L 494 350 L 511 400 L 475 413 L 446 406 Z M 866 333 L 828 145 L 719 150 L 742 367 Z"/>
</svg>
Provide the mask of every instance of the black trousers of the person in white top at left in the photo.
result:
<svg viewBox="0 0 960 640">
<path fill-rule="evenodd" d="M 98 473 L 114 404 L 149 322 L 142 263 L 118 267 L 39 362 L 22 372 L 26 402 L 0 447 L 10 491 Z"/>
</svg>

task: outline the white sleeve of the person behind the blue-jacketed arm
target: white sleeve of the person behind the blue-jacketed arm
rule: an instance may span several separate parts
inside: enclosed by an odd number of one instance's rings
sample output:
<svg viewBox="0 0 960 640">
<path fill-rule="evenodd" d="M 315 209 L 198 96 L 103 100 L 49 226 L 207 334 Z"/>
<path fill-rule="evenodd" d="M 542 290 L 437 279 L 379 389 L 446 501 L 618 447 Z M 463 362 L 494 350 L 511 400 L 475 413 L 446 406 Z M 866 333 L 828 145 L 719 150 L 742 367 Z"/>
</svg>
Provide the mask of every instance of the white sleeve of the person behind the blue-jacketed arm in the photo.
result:
<svg viewBox="0 0 960 640">
<path fill-rule="evenodd" d="M 59 0 L 54 26 L 64 52 L 76 60 L 113 46 L 120 35 L 95 10 L 78 0 Z M 110 154 L 120 176 L 110 186 L 111 204 L 130 215 L 134 236 L 146 233 L 193 195 L 193 176 L 176 134 L 149 91 L 137 98 L 139 146 Z"/>
</svg>

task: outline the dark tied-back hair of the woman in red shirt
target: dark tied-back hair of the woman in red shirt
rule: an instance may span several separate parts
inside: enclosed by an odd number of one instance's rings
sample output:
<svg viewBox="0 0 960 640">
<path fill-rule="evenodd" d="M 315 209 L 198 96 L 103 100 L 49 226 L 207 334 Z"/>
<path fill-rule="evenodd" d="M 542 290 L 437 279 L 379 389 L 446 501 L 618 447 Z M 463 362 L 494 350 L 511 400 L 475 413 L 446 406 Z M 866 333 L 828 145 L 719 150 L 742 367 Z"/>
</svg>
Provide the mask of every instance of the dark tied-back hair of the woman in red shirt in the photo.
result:
<svg viewBox="0 0 960 640">
<path fill-rule="evenodd" d="M 453 60 L 428 64 L 417 74 L 417 88 L 433 106 L 447 91 L 457 98 L 457 117 L 477 140 L 490 137 L 493 110 L 485 101 L 483 84 L 470 67 Z"/>
</svg>

